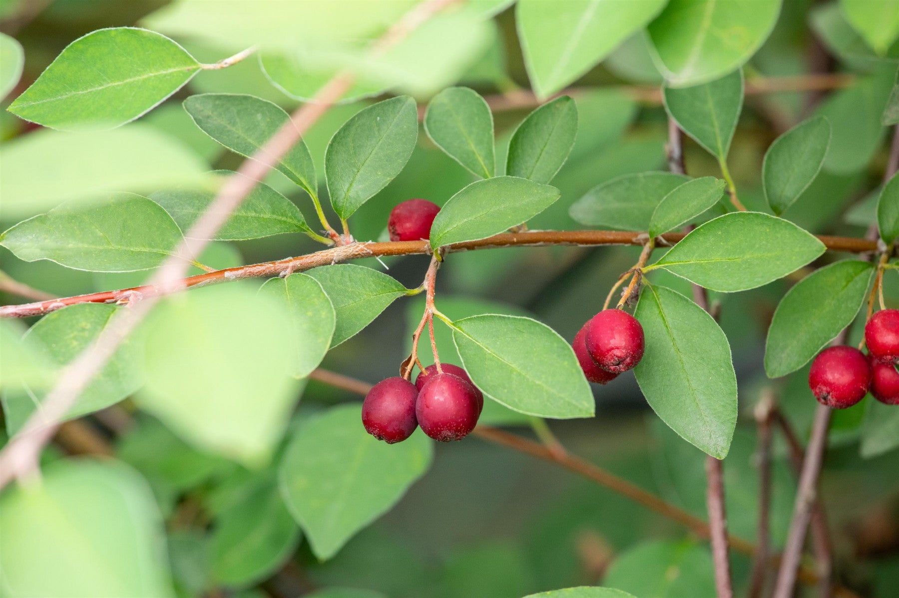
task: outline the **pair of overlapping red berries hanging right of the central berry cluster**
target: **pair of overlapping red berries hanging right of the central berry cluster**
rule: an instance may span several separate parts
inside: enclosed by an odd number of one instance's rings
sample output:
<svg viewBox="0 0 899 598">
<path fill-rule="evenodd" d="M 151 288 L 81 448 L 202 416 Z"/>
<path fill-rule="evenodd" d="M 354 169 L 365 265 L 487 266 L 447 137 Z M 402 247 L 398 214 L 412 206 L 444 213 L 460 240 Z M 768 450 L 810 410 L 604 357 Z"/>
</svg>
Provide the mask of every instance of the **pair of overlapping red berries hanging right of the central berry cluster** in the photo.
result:
<svg viewBox="0 0 899 598">
<path fill-rule="evenodd" d="M 603 310 L 578 330 L 572 347 L 587 380 L 605 384 L 640 362 L 643 326 L 628 312 Z"/>
</svg>

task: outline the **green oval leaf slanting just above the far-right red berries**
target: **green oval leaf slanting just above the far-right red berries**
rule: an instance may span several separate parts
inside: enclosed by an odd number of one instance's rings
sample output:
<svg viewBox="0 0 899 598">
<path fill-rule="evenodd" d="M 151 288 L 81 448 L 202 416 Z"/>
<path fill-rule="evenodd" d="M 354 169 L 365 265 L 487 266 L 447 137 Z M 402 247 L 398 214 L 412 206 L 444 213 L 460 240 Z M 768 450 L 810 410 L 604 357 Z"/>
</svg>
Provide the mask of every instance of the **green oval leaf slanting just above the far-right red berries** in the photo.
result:
<svg viewBox="0 0 899 598">
<path fill-rule="evenodd" d="M 778 304 L 765 343 L 765 373 L 779 378 L 806 365 L 855 320 L 874 276 L 867 261 L 844 259 L 815 270 Z"/>
</svg>

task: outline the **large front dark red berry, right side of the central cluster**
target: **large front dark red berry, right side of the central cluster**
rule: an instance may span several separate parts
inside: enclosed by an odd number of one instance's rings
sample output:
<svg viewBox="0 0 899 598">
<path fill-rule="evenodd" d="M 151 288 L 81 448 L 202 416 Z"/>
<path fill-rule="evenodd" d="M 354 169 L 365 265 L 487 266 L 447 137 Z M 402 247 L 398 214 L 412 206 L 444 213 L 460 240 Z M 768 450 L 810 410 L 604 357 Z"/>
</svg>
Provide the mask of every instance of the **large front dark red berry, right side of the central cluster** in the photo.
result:
<svg viewBox="0 0 899 598">
<path fill-rule="evenodd" d="M 415 401 L 415 417 L 434 440 L 461 440 L 477 423 L 475 387 L 453 374 L 434 374 Z"/>
</svg>

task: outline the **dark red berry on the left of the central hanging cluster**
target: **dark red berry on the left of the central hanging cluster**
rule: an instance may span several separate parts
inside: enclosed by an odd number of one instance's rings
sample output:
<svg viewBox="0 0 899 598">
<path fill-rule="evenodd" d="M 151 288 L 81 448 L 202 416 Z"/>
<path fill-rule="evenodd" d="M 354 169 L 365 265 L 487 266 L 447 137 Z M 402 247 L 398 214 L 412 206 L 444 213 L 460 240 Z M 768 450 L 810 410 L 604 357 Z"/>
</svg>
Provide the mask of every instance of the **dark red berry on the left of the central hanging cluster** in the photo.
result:
<svg viewBox="0 0 899 598">
<path fill-rule="evenodd" d="M 362 425 L 370 435 L 387 444 L 404 441 L 418 426 L 417 397 L 415 385 L 399 376 L 380 381 L 362 401 Z"/>
</svg>

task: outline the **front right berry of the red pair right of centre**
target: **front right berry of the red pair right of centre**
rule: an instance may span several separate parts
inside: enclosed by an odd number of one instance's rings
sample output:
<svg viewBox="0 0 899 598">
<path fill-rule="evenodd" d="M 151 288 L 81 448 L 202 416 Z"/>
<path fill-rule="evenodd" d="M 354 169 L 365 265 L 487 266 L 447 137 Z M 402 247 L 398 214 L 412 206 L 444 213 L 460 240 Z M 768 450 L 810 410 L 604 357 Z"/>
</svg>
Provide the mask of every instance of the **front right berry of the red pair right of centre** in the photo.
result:
<svg viewBox="0 0 899 598">
<path fill-rule="evenodd" d="M 643 326 L 622 310 L 603 310 L 585 325 L 587 353 L 612 374 L 627 372 L 643 356 Z"/>
</svg>

